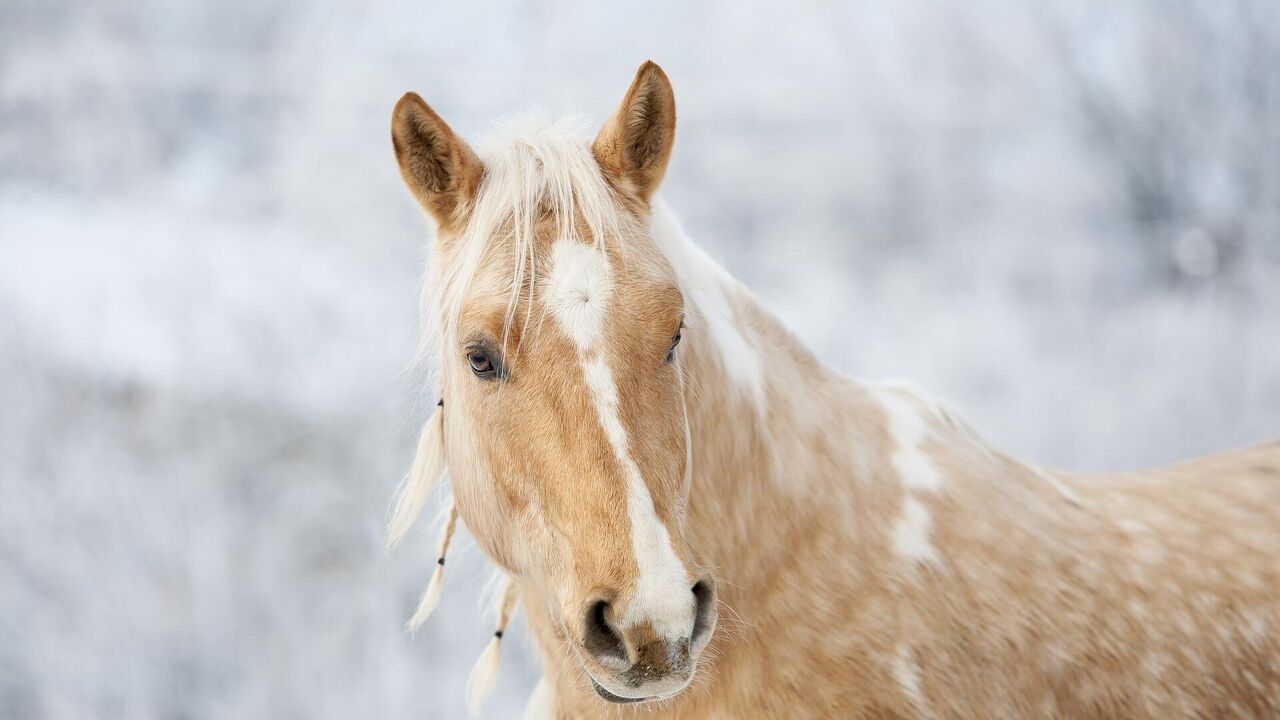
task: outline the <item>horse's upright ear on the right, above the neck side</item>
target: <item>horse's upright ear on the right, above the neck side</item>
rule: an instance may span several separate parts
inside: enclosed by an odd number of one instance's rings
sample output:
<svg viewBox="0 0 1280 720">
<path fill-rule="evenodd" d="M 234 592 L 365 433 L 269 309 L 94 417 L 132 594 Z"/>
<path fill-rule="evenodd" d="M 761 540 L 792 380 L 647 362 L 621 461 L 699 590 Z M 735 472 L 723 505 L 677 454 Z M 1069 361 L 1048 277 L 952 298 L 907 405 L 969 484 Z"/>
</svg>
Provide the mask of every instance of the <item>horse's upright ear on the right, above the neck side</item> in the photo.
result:
<svg viewBox="0 0 1280 720">
<path fill-rule="evenodd" d="M 667 172 L 676 142 L 676 94 L 652 60 L 636 70 L 618 111 L 595 136 L 591 151 L 625 191 L 648 201 Z"/>
</svg>

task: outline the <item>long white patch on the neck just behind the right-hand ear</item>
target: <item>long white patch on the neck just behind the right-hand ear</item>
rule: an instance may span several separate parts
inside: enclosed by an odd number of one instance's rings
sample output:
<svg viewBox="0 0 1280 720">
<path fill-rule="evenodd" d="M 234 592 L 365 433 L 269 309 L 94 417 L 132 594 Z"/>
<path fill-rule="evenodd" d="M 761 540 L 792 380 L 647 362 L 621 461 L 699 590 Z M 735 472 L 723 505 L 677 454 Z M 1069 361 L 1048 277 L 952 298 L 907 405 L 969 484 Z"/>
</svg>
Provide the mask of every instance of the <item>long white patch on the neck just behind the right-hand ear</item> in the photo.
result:
<svg viewBox="0 0 1280 720">
<path fill-rule="evenodd" d="M 654 200 L 650 236 L 676 272 L 685 295 L 690 329 L 700 331 L 699 320 L 716 346 L 726 374 L 751 396 L 763 414 L 764 365 L 759 351 L 744 333 L 733 311 L 732 293 L 739 284 L 728 273 L 694 243 L 667 206 Z"/>
</svg>

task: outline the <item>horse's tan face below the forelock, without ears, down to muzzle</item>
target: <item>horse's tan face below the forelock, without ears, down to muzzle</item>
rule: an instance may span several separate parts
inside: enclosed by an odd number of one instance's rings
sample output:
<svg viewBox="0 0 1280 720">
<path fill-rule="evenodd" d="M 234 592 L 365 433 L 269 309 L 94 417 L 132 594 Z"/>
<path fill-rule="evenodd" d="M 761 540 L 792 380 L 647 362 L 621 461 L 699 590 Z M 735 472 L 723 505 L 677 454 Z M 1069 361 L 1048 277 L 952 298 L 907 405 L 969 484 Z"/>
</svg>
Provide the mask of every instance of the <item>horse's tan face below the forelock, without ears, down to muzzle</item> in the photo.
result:
<svg viewBox="0 0 1280 720">
<path fill-rule="evenodd" d="M 637 277 L 639 263 L 547 245 L 513 327 L 506 296 L 481 291 L 447 341 L 458 510 L 492 557 L 544 592 L 607 692 L 669 694 L 714 611 L 682 539 L 682 299 Z"/>
</svg>

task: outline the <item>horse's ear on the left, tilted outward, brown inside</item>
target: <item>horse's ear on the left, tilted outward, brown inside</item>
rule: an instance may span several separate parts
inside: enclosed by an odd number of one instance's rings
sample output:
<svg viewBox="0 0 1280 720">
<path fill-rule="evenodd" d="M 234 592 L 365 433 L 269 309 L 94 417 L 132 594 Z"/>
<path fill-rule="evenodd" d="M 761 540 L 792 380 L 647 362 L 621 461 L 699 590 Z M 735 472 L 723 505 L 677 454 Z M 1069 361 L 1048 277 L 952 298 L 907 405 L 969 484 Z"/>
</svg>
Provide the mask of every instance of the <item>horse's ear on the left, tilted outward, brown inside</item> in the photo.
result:
<svg viewBox="0 0 1280 720">
<path fill-rule="evenodd" d="M 457 225 L 480 190 L 484 165 L 416 92 L 392 111 L 392 146 L 404 184 L 442 228 Z"/>
</svg>

